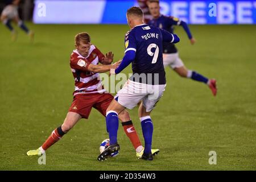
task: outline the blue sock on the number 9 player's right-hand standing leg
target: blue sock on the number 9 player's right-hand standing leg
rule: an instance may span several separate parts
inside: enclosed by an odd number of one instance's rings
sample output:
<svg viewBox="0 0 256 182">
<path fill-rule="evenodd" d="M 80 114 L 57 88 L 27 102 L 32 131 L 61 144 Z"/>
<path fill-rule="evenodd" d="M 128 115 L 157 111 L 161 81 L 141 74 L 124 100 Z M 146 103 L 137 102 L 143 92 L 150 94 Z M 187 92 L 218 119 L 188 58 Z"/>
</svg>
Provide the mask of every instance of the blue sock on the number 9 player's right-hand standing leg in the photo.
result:
<svg viewBox="0 0 256 182">
<path fill-rule="evenodd" d="M 141 127 L 145 142 L 144 153 L 150 154 L 153 135 L 153 123 L 150 116 L 141 117 Z"/>
</svg>

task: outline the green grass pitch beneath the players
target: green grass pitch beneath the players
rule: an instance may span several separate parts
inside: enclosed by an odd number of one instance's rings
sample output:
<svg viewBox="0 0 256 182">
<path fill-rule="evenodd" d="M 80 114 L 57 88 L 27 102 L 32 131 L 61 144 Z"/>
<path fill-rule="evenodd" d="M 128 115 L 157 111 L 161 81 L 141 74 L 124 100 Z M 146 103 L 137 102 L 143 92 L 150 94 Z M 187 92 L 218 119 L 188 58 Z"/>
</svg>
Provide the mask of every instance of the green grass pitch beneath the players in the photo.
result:
<svg viewBox="0 0 256 182">
<path fill-rule="evenodd" d="M 121 151 L 98 162 L 108 138 L 105 118 L 92 110 L 49 148 L 46 165 L 26 152 L 38 148 L 63 123 L 72 102 L 74 81 L 69 56 L 75 34 L 87 31 L 102 52 L 122 58 L 125 25 L 41 25 L 28 23 L 35 42 L 0 25 L 0 169 L 1 170 L 255 170 L 256 169 L 256 26 L 190 26 L 191 46 L 181 27 L 176 34 L 180 57 L 189 69 L 217 79 L 218 94 L 199 82 L 166 69 L 167 88 L 152 113 L 152 162 L 138 160 L 119 125 Z M 125 73 L 130 73 L 126 68 Z M 143 142 L 137 108 L 131 118 Z M 210 165 L 209 151 L 217 164 Z"/>
</svg>

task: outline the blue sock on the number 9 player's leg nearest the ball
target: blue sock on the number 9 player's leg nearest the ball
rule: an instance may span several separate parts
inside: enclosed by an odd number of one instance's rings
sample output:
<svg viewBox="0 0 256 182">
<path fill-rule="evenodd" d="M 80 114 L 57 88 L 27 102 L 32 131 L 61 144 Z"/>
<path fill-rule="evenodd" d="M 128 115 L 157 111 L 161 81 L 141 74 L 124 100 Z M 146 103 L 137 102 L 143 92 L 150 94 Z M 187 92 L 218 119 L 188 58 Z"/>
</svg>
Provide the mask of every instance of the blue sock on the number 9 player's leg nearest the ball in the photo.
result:
<svg viewBox="0 0 256 182">
<path fill-rule="evenodd" d="M 110 110 L 106 113 L 106 127 L 109 133 L 110 144 L 117 143 L 118 114 Z"/>
</svg>

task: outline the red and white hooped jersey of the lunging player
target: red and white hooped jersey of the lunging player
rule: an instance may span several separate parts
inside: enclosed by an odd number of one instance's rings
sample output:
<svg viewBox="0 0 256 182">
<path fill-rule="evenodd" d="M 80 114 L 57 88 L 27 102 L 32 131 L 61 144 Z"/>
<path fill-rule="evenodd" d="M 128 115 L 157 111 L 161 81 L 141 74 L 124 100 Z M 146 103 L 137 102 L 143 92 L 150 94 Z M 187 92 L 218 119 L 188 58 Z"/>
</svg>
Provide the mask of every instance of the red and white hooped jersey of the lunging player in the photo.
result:
<svg viewBox="0 0 256 182">
<path fill-rule="evenodd" d="M 76 94 L 103 93 L 106 90 L 101 84 L 100 73 L 89 72 L 90 64 L 97 65 L 104 59 L 104 55 L 94 45 L 90 46 L 89 55 L 84 57 L 80 55 L 77 49 L 73 50 L 70 59 L 71 71 L 75 79 Z"/>
</svg>

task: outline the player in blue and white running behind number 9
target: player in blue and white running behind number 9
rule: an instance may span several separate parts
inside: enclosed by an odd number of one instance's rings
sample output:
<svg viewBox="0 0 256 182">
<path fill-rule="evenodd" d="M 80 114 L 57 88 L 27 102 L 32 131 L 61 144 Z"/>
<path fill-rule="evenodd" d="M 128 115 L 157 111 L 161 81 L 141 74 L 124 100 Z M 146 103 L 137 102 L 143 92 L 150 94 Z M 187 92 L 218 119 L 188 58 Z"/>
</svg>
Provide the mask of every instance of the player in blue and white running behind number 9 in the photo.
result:
<svg viewBox="0 0 256 182">
<path fill-rule="evenodd" d="M 172 16 L 164 16 L 160 14 L 160 6 L 158 0 L 149 0 L 147 2 L 153 19 L 148 22 L 148 25 L 163 28 L 170 33 L 174 32 L 174 26 L 182 26 L 188 35 L 191 44 L 195 44 L 196 40 L 191 35 L 187 23 Z M 208 79 L 195 71 L 185 68 L 183 61 L 179 57 L 179 53 L 172 43 L 163 43 L 163 63 L 164 67 L 170 66 L 181 77 L 191 78 L 192 80 L 204 82 L 212 90 L 213 96 L 217 94 L 216 80 Z"/>
</svg>

